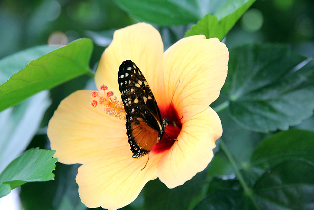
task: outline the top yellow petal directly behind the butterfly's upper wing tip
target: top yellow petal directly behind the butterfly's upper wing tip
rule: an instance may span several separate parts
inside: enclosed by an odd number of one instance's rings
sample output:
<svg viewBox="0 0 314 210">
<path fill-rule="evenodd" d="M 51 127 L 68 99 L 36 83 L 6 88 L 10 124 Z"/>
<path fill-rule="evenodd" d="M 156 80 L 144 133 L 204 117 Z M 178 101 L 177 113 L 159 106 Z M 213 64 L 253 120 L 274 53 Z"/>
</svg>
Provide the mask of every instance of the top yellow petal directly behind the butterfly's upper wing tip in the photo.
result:
<svg viewBox="0 0 314 210">
<path fill-rule="evenodd" d="M 96 87 L 105 84 L 121 98 L 117 82 L 119 66 L 125 60 L 132 60 L 144 74 L 153 93 L 160 89 L 163 92 L 163 85 L 160 85 L 163 84 L 162 58 L 161 36 L 150 24 L 138 23 L 116 30 L 112 43 L 99 61 L 95 73 Z"/>
</svg>

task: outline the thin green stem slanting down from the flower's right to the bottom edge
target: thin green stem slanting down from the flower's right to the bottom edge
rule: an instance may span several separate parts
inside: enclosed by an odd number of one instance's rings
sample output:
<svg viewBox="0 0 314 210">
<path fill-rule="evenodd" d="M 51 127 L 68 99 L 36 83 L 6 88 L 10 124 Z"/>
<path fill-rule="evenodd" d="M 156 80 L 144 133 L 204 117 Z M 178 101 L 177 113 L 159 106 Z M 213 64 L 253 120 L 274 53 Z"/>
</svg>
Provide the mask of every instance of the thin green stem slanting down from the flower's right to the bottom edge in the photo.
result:
<svg viewBox="0 0 314 210">
<path fill-rule="evenodd" d="M 237 176 L 237 178 L 239 179 L 239 182 L 244 190 L 244 194 L 252 201 L 253 205 L 255 206 L 255 208 L 257 210 L 261 210 L 260 207 L 258 206 L 258 204 L 256 203 L 256 201 L 254 200 L 254 198 L 252 197 L 252 190 L 248 187 L 248 185 L 246 184 L 241 172 L 239 171 L 236 163 L 235 163 L 235 159 L 232 156 L 232 154 L 230 153 L 230 151 L 227 149 L 224 141 L 222 139 L 219 140 L 219 147 L 220 149 L 225 153 L 227 159 L 229 160 L 231 167 L 233 168 L 233 170 L 235 171 L 235 174 Z"/>
</svg>

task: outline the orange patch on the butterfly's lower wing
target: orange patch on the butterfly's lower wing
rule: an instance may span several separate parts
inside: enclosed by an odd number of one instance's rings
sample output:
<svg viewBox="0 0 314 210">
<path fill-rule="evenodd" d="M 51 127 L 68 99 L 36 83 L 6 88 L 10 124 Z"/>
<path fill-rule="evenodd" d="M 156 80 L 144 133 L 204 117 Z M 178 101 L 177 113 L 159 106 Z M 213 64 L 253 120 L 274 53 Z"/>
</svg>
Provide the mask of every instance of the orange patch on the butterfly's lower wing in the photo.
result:
<svg viewBox="0 0 314 210">
<path fill-rule="evenodd" d="M 131 130 L 136 143 L 146 151 L 152 150 L 158 142 L 159 132 L 145 122 L 132 122 Z"/>
</svg>

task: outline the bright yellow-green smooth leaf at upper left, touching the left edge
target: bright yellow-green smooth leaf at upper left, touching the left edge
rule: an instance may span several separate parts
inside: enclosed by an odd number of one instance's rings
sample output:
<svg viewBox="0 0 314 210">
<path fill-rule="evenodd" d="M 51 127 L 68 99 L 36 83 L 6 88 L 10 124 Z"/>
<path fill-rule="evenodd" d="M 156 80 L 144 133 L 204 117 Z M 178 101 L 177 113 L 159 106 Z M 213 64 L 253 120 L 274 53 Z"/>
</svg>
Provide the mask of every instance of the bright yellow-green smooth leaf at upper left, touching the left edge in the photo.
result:
<svg viewBox="0 0 314 210">
<path fill-rule="evenodd" d="M 0 111 L 88 73 L 92 48 L 90 39 L 79 39 L 31 61 L 0 86 Z"/>
</svg>

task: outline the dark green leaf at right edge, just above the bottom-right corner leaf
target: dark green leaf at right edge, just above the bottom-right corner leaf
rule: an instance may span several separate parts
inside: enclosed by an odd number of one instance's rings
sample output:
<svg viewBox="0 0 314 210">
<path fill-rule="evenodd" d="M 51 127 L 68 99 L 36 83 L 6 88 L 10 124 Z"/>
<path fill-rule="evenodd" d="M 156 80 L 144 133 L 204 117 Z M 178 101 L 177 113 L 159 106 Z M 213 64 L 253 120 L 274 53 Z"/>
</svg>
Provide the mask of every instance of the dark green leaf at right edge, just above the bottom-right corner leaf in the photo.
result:
<svg viewBox="0 0 314 210">
<path fill-rule="evenodd" d="M 298 159 L 314 164 L 314 132 L 288 130 L 265 139 L 252 155 L 252 165 L 269 169 L 283 161 Z"/>
</svg>

